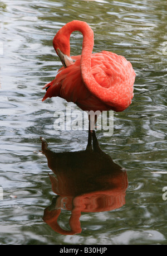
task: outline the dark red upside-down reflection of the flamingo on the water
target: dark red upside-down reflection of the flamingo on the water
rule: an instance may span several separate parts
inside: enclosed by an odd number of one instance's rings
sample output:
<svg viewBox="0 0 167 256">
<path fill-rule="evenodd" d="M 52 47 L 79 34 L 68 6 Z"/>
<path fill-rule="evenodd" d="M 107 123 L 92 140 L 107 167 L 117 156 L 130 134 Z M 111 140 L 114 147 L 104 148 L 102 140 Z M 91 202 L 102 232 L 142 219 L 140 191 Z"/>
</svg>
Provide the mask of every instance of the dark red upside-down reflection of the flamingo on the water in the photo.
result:
<svg viewBox="0 0 167 256">
<path fill-rule="evenodd" d="M 56 174 L 50 180 L 57 196 L 43 215 L 53 230 L 64 235 L 81 233 L 81 212 L 111 211 L 125 204 L 126 171 L 100 149 L 95 131 L 89 132 L 85 151 L 55 153 L 41 141 L 48 167 Z M 69 231 L 57 223 L 61 208 L 71 211 Z"/>
</svg>

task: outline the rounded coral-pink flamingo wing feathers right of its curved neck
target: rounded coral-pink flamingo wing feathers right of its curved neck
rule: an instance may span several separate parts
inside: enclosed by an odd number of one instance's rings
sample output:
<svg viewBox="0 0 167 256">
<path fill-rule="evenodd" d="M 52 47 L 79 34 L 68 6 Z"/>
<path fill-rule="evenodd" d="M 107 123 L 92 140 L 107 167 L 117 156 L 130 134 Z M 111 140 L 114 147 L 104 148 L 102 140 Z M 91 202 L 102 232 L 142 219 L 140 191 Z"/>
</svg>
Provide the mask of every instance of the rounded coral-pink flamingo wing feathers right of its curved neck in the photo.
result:
<svg viewBox="0 0 167 256">
<path fill-rule="evenodd" d="M 110 109 L 116 112 L 125 110 L 134 96 L 135 72 L 131 63 L 123 56 L 108 51 L 95 55 L 96 58 L 92 59 L 91 73 L 97 86 L 95 83 L 85 86 L 92 95 L 109 105 Z"/>
</svg>

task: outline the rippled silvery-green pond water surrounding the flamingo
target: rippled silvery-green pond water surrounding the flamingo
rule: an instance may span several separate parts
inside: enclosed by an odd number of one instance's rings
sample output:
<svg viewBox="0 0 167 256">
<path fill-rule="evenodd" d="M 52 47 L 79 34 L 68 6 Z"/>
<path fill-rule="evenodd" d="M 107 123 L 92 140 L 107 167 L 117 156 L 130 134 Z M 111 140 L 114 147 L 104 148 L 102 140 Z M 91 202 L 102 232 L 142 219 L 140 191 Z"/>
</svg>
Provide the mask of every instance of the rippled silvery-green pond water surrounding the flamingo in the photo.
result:
<svg viewBox="0 0 167 256">
<path fill-rule="evenodd" d="M 166 244 L 166 11 L 166 1 L 151 0 L 0 2 L 1 244 Z M 68 103 L 61 98 L 41 102 L 42 87 L 61 67 L 52 47 L 53 36 L 74 19 L 86 21 L 94 30 L 94 51 L 124 55 L 136 72 L 134 99 L 127 110 L 114 113 L 113 136 L 97 131 L 104 158 L 97 153 L 92 158 L 95 162 L 86 162 L 83 153 L 87 131 L 57 133 L 53 127 L 54 112 L 65 111 Z M 81 53 L 81 45 L 81 34 L 73 33 L 72 55 Z M 78 108 L 72 105 L 72 109 Z M 60 197 L 52 191 L 48 176 L 57 167 L 48 167 L 49 157 L 40 151 L 41 136 L 50 154 L 72 153 L 70 158 L 58 155 L 56 162 L 68 189 Z M 78 157 L 76 151 L 84 155 Z M 118 172 L 114 176 L 115 168 L 126 179 Z M 115 182 L 115 193 L 112 186 L 107 187 L 109 181 Z M 124 191 L 118 181 L 124 181 Z M 87 182 L 91 182 L 88 187 Z M 97 197 L 95 191 L 102 196 Z M 116 195 L 118 200 L 113 199 Z M 78 213 L 83 211 L 82 231 L 61 234 L 43 221 L 52 199 L 57 205 L 60 201 L 58 225 L 66 231 L 70 230 L 72 203 L 76 203 Z M 54 206 L 47 209 L 52 213 Z"/>
</svg>

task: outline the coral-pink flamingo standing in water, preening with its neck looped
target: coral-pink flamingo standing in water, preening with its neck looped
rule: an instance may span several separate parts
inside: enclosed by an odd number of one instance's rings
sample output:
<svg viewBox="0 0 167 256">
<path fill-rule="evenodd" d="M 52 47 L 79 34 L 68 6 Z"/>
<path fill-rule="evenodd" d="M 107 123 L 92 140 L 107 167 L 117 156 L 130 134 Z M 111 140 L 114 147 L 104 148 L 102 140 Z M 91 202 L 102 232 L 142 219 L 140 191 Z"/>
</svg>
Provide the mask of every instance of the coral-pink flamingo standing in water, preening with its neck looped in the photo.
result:
<svg viewBox="0 0 167 256">
<path fill-rule="evenodd" d="M 70 56 L 73 31 L 83 35 L 82 53 L 77 56 Z M 92 53 L 94 32 L 86 22 L 68 22 L 53 38 L 53 47 L 63 67 L 55 79 L 45 85 L 46 94 L 42 101 L 58 96 L 75 103 L 81 110 L 94 112 L 121 112 L 129 107 L 135 82 L 130 61 L 110 51 Z"/>
</svg>

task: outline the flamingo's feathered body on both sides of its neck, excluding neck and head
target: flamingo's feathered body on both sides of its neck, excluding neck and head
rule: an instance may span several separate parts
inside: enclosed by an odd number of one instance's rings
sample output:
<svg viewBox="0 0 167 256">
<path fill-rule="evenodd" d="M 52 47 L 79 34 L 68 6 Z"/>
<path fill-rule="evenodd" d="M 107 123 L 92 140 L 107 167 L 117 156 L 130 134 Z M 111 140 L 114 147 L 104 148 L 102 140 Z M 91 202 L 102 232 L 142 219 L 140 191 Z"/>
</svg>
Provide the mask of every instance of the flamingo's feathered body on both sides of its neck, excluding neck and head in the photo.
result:
<svg viewBox="0 0 167 256">
<path fill-rule="evenodd" d="M 66 99 L 67 102 L 76 103 L 82 110 L 102 111 L 112 109 L 122 111 L 123 109 L 116 108 L 116 101 L 114 103 L 105 103 L 101 98 L 95 96 L 92 89 L 86 87 L 82 82 L 81 76 L 81 56 L 73 56 L 71 58 L 76 60 L 75 64 L 67 68 L 62 67 L 59 70 L 56 78 L 45 86 L 47 91 L 42 101 L 46 98 L 59 96 Z M 127 101 L 126 98 L 128 97 L 128 100 L 131 101 L 133 97 L 131 84 L 134 79 L 134 77 L 131 78 L 131 72 L 130 62 L 122 56 L 108 51 L 92 54 L 91 73 L 100 85 L 102 94 L 110 93 L 112 88 L 112 93 L 113 91 L 115 92 L 117 100 L 121 96 L 123 100 Z"/>
</svg>

